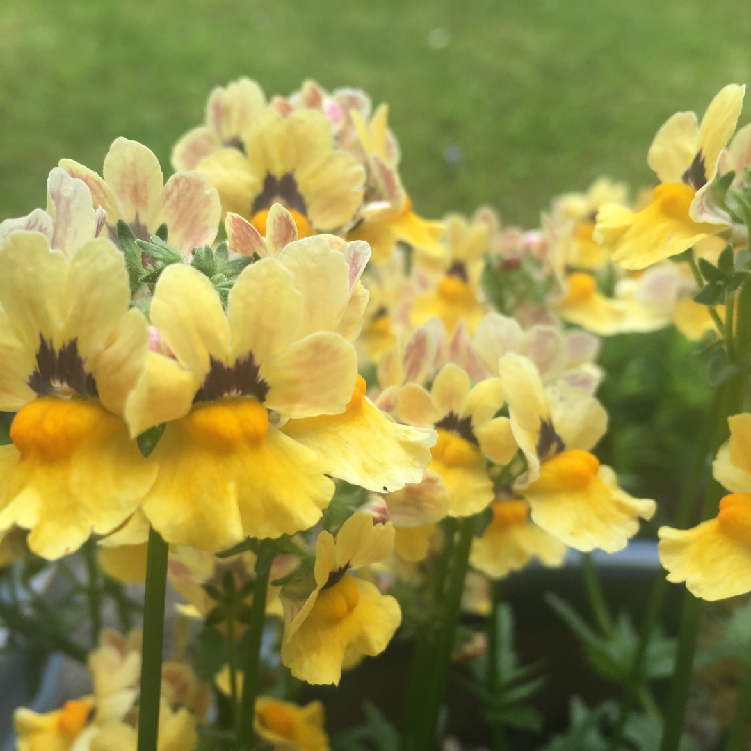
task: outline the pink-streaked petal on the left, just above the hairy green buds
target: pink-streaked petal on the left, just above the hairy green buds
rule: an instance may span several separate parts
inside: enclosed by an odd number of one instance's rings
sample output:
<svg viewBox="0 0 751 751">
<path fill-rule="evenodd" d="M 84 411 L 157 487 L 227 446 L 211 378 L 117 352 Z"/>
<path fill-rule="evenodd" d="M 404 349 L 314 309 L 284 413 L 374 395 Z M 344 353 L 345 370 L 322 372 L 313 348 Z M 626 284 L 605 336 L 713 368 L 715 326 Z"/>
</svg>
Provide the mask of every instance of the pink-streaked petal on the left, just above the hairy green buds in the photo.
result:
<svg viewBox="0 0 751 751">
<path fill-rule="evenodd" d="M 178 172 L 161 191 L 161 210 L 154 229 L 167 222 L 167 239 L 184 258 L 193 248 L 211 245 L 219 231 L 222 204 L 219 193 L 200 172 Z"/>
</svg>

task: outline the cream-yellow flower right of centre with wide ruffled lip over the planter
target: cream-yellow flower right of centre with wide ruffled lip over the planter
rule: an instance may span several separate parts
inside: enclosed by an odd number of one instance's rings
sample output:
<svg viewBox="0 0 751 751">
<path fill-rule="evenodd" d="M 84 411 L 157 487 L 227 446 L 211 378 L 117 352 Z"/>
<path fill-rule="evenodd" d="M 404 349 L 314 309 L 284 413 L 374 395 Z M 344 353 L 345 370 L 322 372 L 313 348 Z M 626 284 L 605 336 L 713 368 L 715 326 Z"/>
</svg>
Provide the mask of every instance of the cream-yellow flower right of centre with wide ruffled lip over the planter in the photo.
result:
<svg viewBox="0 0 751 751">
<path fill-rule="evenodd" d="M 620 490 L 613 470 L 590 454 L 605 433 L 605 410 L 565 382 L 544 388 L 532 362 L 518 354 L 505 354 L 499 373 L 511 431 L 527 463 L 526 481 L 514 491 L 529 503 L 532 521 L 577 550 L 626 547 L 637 517 L 652 517 L 655 502 Z"/>
</svg>

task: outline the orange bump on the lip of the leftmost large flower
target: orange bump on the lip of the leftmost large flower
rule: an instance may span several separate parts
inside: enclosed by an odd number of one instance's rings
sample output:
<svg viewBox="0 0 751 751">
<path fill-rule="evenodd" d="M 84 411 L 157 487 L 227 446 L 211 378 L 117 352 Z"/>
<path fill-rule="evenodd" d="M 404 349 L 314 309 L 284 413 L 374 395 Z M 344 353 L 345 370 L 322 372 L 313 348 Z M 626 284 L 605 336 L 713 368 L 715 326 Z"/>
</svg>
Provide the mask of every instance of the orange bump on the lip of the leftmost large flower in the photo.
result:
<svg viewBox="0 0 751 751">
<path fill-rule="evenodd" d="M 56 460 L 71 456 L 84 440 L 106 440 L 121 427 L 122 421 L 94 400 L 40 397 L 15 416 L 11 440 L 22 457 Z"/>
</svg>

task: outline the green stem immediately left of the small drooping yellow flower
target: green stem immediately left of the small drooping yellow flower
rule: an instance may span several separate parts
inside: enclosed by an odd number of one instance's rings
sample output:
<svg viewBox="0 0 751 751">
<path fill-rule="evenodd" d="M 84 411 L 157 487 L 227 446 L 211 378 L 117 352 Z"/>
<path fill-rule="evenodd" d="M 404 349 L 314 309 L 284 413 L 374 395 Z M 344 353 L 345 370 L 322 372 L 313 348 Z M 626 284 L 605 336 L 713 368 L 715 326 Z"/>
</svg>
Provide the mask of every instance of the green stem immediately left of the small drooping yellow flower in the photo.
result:
<svg viewBox="0 0 751 751">
<path fill-rule="evenodd" d="M 245 671 L 243 672 L 243 698 L 240 700 L 240 749 L 251 749 L 255 740 L 253 719 L 255 717 L 255 698 L 258 695 L 261 668 L 261 637 L 264 634 L 266 617 L 266 595 L 269 588 L 271 562 L 274 559 L 273 540 L 262 540 L 255 560 L 255 586 L 253 587 L 253 604 L 248 620 Z"/>
</svg>

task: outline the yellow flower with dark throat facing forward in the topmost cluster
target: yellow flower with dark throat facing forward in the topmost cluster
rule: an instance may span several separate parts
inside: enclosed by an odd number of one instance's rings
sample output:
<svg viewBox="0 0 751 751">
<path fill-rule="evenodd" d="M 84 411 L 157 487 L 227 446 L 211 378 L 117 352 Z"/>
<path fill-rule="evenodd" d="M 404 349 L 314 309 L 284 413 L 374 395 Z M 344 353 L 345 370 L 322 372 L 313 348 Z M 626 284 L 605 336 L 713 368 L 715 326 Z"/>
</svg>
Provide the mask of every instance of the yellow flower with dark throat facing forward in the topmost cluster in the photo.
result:
<svg viewBox="0 0 751 751">
<path fill-rule="evenodd" d="M 351 221 L 363 198 L 365 173 L 351 154 L 334 149 L 323 115 L 300 110 L 284 119 L 266 110 L 253 120 L 243 146 L 245 154 L 220 149 L 198 165 L 219 191 L 223 214 L 249 219 L 266 234 L 269 210 L 281 203 L 300 237 Z"/>
</svg>

